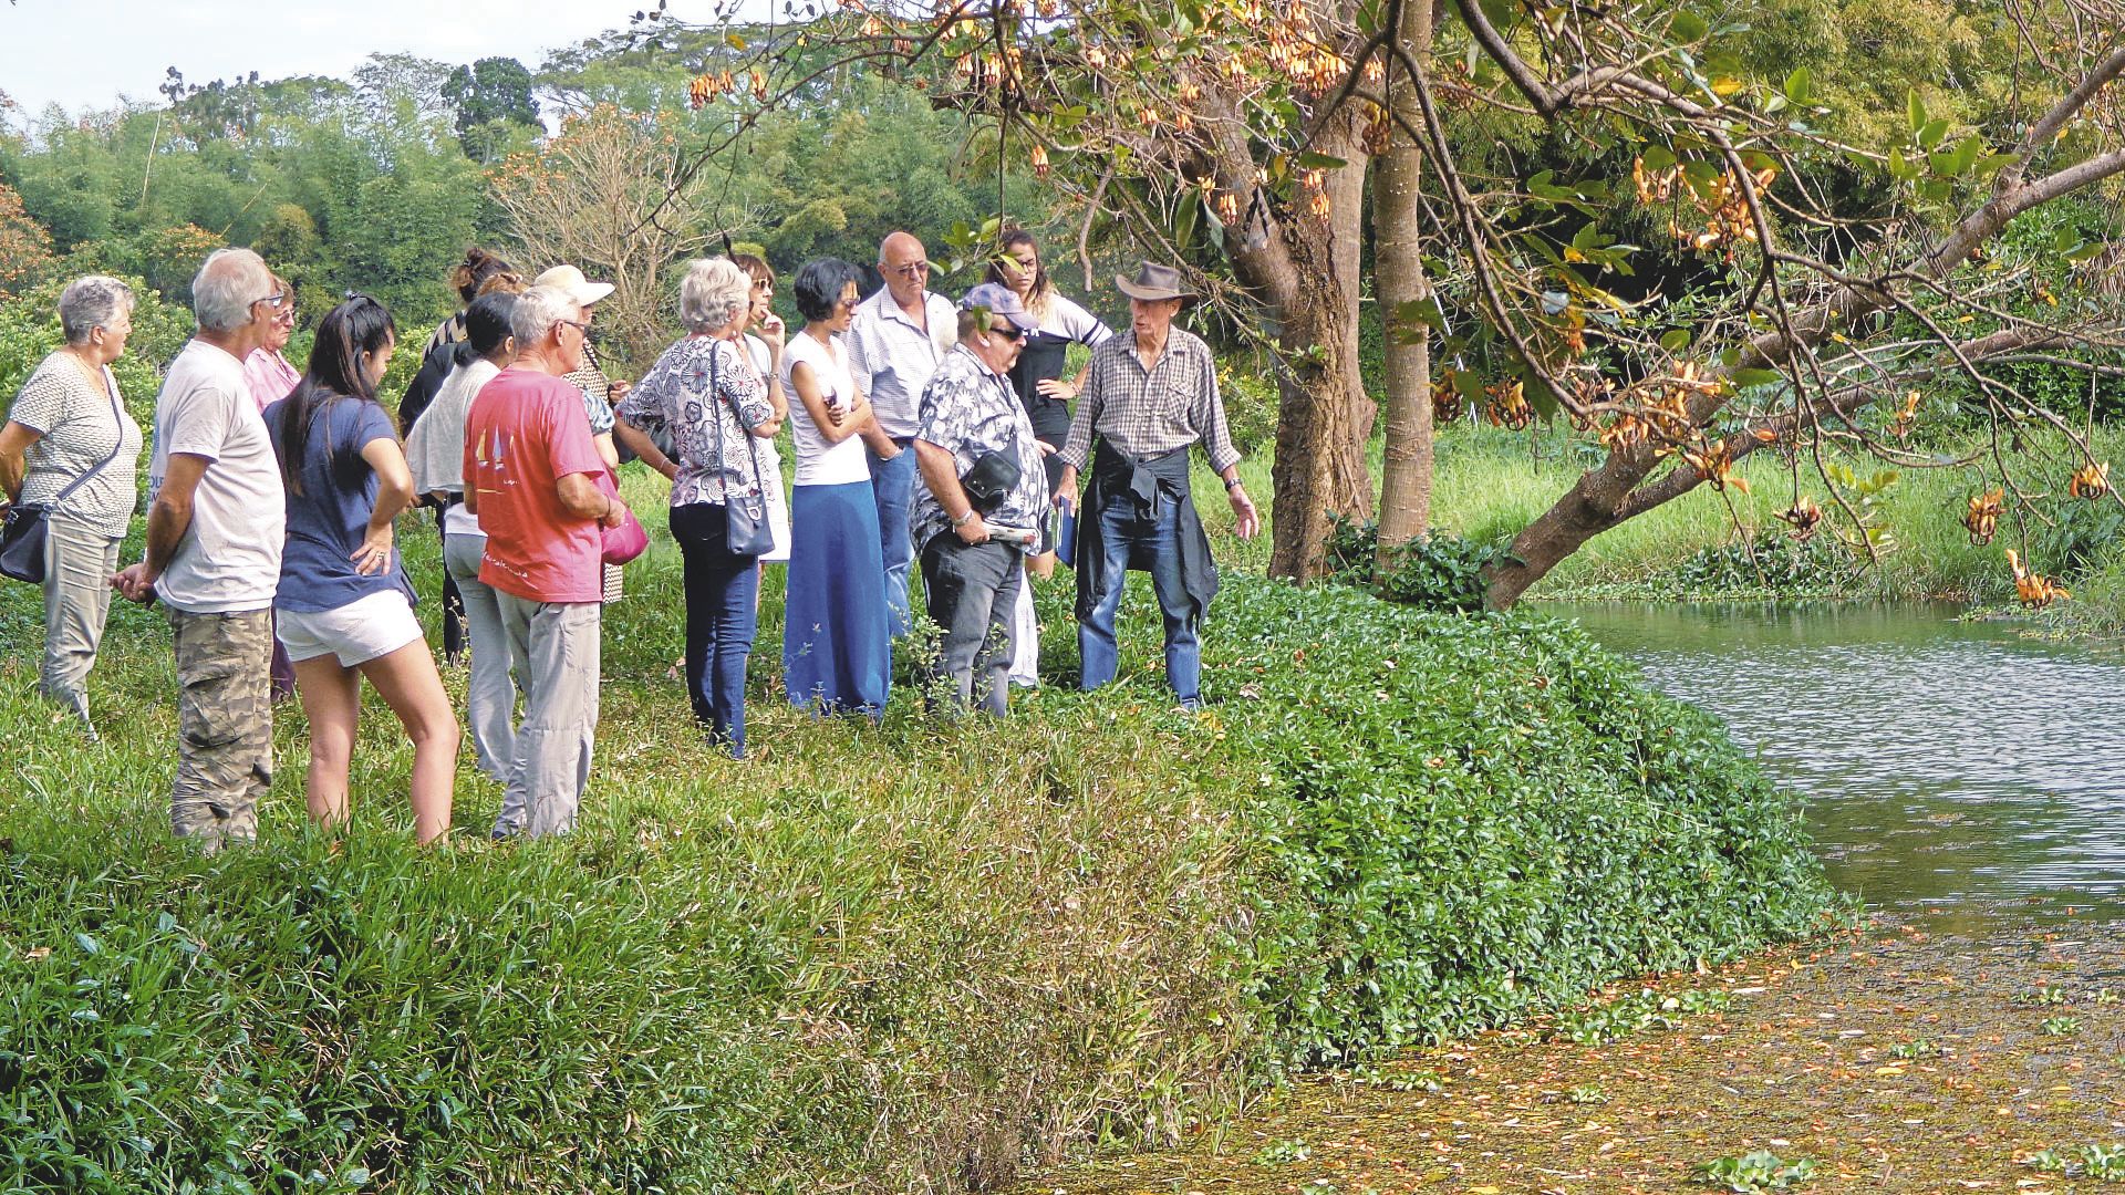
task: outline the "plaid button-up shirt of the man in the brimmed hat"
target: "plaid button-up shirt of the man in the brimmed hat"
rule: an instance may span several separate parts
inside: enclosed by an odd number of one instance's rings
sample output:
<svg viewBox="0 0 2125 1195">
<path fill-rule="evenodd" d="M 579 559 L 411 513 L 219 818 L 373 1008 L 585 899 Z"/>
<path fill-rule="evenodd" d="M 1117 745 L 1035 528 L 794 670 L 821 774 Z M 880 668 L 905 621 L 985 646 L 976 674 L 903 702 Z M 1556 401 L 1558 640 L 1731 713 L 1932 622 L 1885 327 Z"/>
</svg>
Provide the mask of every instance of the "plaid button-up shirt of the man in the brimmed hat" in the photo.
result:
<svg viewBox="0 0 2125 1195">
<path fill-rule="evenodd" d="M 1239 464 L 1218 398 L 1218 361 L 1201 336 L 1179 327 L 1167 334 L 1167 351 L 1150 370 L 1126 330 L 1092 349 L 1062 464 L 1084 472 L 1094 434 L 1139 461 L 1201 442 L 1216 472 Z"/>
</svg>

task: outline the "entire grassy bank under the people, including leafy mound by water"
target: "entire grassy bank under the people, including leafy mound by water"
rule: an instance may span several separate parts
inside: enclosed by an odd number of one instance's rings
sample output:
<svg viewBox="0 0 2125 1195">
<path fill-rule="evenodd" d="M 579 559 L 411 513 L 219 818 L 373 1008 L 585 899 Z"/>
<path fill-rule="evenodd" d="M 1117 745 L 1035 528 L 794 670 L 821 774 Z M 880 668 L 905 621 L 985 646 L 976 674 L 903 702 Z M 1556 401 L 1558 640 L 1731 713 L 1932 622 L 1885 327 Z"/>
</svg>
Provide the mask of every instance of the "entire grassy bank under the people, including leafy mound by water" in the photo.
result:
<svg viewBox="0 0 2125 1195">
<path fill-rule="evenodd" d="M 1209 717 L 1133 591 L 1124 683 L 1005 725 L 910 685 L 878 727 L 795 714 L 769 587 L 733 763 L 686 729 L 650 523 L 563 842 L 489 846 L 468 763 L 465 831 L 414 853 L 372 704 L 346 834 L 306 827 L 283 712 L 261 846 L 200 859 L 157 615 L 115 617 L 91 748 L 34 697 L 36 593 L 0 591 L 0 1186 L 988 1189 L 1830 904 L 1791 797 L 1570 627 L 1243 574 Z M 1067 578 L 1039 598 L 1060 678 Z"/>
</svg>

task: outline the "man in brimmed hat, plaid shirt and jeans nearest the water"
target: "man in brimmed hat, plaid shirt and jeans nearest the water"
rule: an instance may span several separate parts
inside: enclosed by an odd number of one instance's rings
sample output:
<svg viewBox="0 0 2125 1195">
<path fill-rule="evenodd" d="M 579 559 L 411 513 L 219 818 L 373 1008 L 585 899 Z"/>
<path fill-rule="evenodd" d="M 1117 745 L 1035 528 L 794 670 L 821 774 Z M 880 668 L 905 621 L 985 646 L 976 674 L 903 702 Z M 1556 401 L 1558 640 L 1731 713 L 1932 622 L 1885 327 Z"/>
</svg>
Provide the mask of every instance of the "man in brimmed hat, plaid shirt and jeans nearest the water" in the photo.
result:
<svg viewBox="0 0 2125 1195">
<path fill-rule="evenodd" d="M 1262 523 L 1239 483 L 1239 449 L 1218 398 L 1218 361 L 1209 344 L 1173 327 L 1182 302 L 1194 298 L 1179 270 L 1145 262 L 1135 279 L 1116 276 L 1114 285 L 1128 296 L 1133 334 L 1092 349 L 1056 485 L 1056 502 L 1075 498 L 1077 474 L 1090 464 L 1092 483 L 1077 519 L 1080 676 L 1086 689 L 1114 680 L 1120 663 L 1114 615 L 1128 570 L 1143 570 L 1167 623 L 1167 683 L 1194 710 L 1203 704 L 1198 627 L 1218 593 L 1218 566 L 1188 493 L 1190 447 L 1203 444 L 1209 468 L 1224 478 L 1239 538 L 1254 538 Z"/>
</svg>

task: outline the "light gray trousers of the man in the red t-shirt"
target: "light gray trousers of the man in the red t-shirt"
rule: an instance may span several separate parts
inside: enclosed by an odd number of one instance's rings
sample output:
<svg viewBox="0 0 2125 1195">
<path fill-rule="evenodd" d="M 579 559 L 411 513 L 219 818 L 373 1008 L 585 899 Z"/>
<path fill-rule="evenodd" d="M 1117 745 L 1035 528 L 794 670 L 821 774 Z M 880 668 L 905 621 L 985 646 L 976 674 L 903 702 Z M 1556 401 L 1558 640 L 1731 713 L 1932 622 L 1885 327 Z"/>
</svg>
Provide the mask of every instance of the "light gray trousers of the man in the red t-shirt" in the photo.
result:
<svg viewBox="0 0 2125 1195">
<path fill-rule="evenodd" d="M 525 687 L 525 721 L 516 727 L 495 831 L 527 831 L 531 838 L 567 834 L 591 782 L 604 606 L 529 602 L 514 593 L 495 593 L 495 602 L 510 661 Z"/>
</svg>

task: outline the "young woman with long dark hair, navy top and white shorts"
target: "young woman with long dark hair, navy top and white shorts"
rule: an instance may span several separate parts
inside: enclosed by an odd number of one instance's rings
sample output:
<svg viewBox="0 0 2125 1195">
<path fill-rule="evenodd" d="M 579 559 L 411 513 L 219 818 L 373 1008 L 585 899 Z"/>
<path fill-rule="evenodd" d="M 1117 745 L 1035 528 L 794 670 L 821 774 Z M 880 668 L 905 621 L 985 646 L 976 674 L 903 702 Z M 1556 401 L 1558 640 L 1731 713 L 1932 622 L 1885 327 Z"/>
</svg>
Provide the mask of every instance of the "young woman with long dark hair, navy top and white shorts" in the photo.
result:
<svg viewBox="0 0 2125 1195">
<path fill-rule="evenodd" d="M 406 453 L 376 402 L 395 344 L 385 304 L 353 296 L 319 323 L 295 391 L 266 408 L 287 489 L 274 634 L 295 661 L 295 691 L 310 719 L 310 817 L 346 821 L 368 676 L 412 738 L 414 838 L 427 844 L 450 829 L 459 736 L 391 544 L 391 521 L 414 498 Z"/>
</svg>

